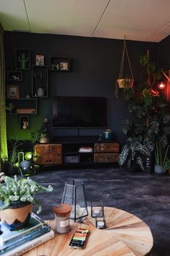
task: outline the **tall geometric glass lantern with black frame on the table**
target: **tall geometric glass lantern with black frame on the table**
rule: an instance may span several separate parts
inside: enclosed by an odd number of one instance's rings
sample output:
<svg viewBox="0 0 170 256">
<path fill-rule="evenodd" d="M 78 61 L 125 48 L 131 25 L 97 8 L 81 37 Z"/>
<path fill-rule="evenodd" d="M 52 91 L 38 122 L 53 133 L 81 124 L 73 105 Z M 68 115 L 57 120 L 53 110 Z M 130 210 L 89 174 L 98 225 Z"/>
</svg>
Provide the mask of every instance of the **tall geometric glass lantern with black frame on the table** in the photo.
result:
<svg viewBox="0 0 170 256">
<path fill-rule="evenodd" d="M 66 181 L 61 202 L 72 205 L 70 220 L 82 222 L 84 218 L 88 216 L 85 188 L 82 181 Z"/>
</svg>

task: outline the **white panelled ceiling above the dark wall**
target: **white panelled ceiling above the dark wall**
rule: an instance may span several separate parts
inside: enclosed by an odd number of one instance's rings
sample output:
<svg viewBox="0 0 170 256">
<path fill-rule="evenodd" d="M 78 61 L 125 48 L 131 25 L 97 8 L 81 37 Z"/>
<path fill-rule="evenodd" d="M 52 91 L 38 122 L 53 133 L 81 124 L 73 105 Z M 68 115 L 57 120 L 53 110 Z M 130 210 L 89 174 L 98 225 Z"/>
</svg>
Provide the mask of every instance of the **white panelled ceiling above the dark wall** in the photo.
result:
<svg viewBox="0 0 170 256">
<path fill-rule="evenodd" d="M 0 0 L 4 30 L 159 42 L 170 0 Z"/>
</svg>

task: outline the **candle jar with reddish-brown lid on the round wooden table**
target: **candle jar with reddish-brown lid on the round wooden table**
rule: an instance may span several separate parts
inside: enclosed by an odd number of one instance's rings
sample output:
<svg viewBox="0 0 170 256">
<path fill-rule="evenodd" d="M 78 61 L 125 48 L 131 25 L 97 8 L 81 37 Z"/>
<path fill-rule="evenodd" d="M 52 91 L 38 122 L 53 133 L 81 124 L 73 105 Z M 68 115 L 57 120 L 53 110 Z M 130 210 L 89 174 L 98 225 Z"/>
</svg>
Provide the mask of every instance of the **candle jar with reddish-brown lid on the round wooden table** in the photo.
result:
<svg viewBox="0 0 170 256">
<path fill-rule="evenodd" d="M 53 207 L 55 216 L 55 231 L 59 234 L 65 234 L 69 232 L 69 215 L 72 210 L 71 205 L 60 204 Z"/>
</svg>

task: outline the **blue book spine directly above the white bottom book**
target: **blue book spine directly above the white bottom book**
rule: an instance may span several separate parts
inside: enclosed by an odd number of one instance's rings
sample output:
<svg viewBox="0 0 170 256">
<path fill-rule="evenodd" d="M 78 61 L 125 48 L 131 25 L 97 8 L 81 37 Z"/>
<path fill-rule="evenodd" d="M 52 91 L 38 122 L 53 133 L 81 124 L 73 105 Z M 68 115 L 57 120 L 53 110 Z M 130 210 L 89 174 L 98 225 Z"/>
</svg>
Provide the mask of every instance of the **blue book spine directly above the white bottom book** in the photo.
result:
<svg viewBox="0 0 170 256">
<path fill-rule="evenodd" d="M 11 249 L 18 247 L 27 241 L 31 241 L 37 238 L 38 236 L 46 234 L 49 231 L 51 231 L 51 226 L 46 225 L 44 228 L 41 228 L 41 230 L 39 231 L 34 231 L 33 233 L 28 234 L 27 236 L 21 237 L 17 241 L 12 241 L 12 243 L 5 245 L 3 249 L 0 249 L 0 255 L 4 255 L 4 252 L 9 252 Z"/>
</svg>

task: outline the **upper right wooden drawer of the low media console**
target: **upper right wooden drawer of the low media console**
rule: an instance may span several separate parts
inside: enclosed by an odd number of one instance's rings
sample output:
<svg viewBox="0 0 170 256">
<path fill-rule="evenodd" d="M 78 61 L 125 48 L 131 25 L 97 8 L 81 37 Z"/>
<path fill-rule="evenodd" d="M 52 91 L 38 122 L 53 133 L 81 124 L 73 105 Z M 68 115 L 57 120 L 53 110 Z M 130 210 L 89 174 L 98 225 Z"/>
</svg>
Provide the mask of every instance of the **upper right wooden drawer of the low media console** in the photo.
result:
<svg viewBox="0 0 170 256">
<path fill-rule="evenodd" d="M 119 144 L 118 143 L 95 143 L 94 152 L 119 152 Z"/>
</svg>

